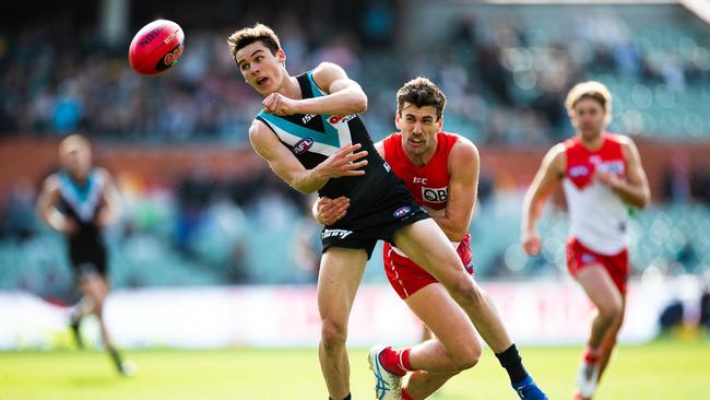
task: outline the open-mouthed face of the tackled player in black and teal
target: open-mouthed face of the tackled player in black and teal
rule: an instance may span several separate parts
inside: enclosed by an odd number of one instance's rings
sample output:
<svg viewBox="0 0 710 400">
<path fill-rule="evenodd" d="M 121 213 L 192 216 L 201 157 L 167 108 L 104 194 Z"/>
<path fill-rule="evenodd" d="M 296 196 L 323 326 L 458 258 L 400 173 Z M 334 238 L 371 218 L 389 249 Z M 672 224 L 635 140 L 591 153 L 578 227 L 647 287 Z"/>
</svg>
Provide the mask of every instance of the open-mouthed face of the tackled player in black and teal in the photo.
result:
<svg viewBox="0 0 710 400">
<path fill-rule="evenodd" d="M 237 51 L 237 64 L 249 86 L 263 96 L 279 91 L 285 71 L 286 55 L 271 52 L 261 42 L 255 42 Z"/>
</svg>

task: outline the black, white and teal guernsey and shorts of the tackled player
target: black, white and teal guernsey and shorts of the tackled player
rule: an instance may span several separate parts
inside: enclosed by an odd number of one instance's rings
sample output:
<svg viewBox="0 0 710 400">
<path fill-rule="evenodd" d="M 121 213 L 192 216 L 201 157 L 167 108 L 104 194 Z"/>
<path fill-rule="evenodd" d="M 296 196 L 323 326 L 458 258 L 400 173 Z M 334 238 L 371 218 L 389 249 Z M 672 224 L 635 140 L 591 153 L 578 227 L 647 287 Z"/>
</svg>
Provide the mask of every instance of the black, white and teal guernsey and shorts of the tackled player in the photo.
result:
<svg viewBox="0 0 710 400">
<path fill-rule="evenodd" d="M 303 98 L 327 94 L 318 87 L 311 71 L 296 79 Z M 307 169 L 322 163 L 347 142 L 359 143 L 360 150 L 367 151 L 368 163 L 362 168 L 365 175 L 331 178 L 318 190 L 319 196 L 331 199 L 350 198 L 345 216 L 321 233 L 323 251 L 329 247 L 365 248 L 369 255 L 378 239 L 392 242 L 399 227 L 428 217 L 377 153 L 359 115 L 276 116 L 262 109 L 257 120 L 269 127 Z"/>
</svg>

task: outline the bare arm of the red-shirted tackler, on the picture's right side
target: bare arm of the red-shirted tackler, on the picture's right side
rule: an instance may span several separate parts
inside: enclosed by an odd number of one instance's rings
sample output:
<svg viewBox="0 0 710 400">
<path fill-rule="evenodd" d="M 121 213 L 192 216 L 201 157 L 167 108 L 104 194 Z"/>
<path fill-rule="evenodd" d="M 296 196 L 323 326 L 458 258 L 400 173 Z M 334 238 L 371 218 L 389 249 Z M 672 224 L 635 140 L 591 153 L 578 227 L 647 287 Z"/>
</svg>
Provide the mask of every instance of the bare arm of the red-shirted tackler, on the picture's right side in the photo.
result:
<svg viewBox="0 0 710 400">
<path fill-rule="evenodd" d="M 449 197 L 443 215 L 431 214 L 434 221 L 450 240 L 462 240 L 469 225 L 478 192 L 481 158 L 476 146 L 459 138 L 449 154 Z"/>
</svg>

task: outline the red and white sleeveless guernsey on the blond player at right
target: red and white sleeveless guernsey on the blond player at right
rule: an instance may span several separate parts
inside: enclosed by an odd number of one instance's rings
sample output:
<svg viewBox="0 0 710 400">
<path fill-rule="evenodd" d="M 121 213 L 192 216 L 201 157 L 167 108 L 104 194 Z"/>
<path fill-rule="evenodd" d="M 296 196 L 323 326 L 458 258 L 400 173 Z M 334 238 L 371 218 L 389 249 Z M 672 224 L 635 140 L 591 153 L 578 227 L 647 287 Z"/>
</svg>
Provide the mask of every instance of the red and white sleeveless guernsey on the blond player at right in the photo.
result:
<svg viewBox="0 0 710 400">
<path fill-rule="evenodd" d="M 603 133 L 604 144 L 585 149 L 579 137 L 565 141 L 567 169 L 563 179 L 570 215 L 570 236 L 601 255 L 615 255 L 628 246 L 628 208 L 612 189 L 594 179 L 596 172 L 626 179 L 622 140 Z"/>
</svg>

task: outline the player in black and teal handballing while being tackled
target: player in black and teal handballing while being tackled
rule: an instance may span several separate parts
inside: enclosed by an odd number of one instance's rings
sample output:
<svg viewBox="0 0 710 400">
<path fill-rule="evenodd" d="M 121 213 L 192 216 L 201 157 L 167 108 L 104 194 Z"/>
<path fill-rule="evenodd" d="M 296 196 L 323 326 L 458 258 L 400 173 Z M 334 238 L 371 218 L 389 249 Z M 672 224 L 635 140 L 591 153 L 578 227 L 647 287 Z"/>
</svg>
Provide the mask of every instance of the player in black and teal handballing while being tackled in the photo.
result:
<svg viewBox="0 0 710 400">
<path fill-rule="evenodd" d="M 245 81 L 265 97 L 249 129 L 256 152 L 298 191 L 351 201 L 348 213 L 321 233 L 319 357 L 330 397 L 351 398 L 347 322 L 377 240 L 397 244 L 426 268 L 476 325 L 500 327 L 443 232 L 375 150 L 358 116 L 367 109 L 359 84 L 329 62 L 289 75 L 279 37 L 261 24 L 235 32 L 228 43 Z M 422 369 L 409 354 L 400 354 L 403 366 Z"/>
</svg>

